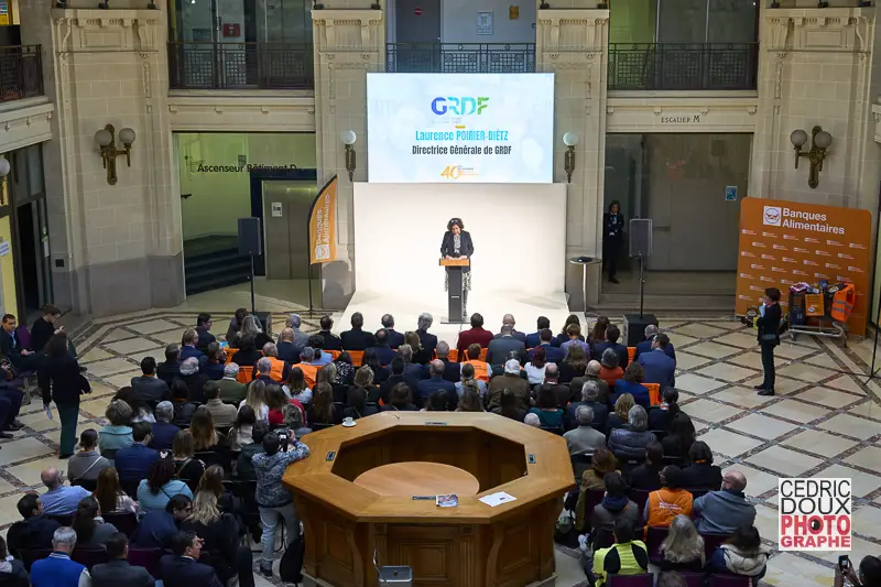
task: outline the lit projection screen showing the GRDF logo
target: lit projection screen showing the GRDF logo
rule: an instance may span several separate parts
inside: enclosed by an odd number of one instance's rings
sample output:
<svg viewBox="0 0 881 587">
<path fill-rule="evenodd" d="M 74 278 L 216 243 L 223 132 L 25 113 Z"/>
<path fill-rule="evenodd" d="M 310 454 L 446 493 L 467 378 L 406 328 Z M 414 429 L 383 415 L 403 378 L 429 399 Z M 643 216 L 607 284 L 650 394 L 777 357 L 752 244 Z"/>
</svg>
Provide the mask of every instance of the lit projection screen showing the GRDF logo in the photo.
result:
<svg viewBox="0 0 881 587">
<path fill-rule="evenodd" d="M 552 183 L 554 74 L 367 74 L 370 183 Z"/>
</svg>

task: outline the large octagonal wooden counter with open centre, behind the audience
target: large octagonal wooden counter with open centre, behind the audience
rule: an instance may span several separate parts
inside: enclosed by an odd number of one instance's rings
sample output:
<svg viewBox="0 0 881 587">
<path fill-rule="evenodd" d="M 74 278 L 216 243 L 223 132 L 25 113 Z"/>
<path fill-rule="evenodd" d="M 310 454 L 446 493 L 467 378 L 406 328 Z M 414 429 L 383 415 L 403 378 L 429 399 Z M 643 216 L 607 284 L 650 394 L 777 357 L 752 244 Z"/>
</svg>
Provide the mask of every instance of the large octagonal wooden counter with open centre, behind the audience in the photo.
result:
<svg viewBox="0 0 881 587">
<path fill-rule="evenodd" d="M 284 483 L 304 525 L 306 585 L 376 587 L 374 552 L 380 566 L 412 567 L 421 587 L 553 585 L 554 524 L 574 486 L 559 436 L 489 413 L 382 412 L 303 442 L 311 456 Z M 448 488 L 466 494 L 436 506 Z M 500 491 L 514 499 L 480 501 Z"/>
</svg>

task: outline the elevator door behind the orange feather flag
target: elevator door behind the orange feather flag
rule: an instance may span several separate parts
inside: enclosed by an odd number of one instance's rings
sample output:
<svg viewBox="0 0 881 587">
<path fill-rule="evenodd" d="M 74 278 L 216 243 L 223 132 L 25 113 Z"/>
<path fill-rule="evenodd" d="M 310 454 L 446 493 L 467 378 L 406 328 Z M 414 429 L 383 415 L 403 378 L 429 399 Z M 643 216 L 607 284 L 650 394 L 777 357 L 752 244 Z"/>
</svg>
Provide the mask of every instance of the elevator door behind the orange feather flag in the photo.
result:
<svg viewBox="0 0 881 587">
<path fill-rule="evenodd" d="M 318 185 L 264 180 L 263 243 L 268 280 L 308 278 L 308 215 Z"/>
</svg>

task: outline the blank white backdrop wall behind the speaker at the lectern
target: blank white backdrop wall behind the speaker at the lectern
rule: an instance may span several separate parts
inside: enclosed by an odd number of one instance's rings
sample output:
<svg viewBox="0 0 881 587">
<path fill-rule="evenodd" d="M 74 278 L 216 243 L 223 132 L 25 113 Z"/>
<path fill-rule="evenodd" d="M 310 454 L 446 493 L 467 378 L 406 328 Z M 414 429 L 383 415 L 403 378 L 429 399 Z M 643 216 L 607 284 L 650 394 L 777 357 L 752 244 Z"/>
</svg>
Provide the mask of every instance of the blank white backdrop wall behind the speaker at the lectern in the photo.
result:
<svg viewBox="0 0 881 587">
<path fill-rule="evenodd" d="M 445 296 L 447 222 L 471 233 L 472 291 L 564 291 L 565 184 L 355 184 L 355 286 Z"/>
</svg>

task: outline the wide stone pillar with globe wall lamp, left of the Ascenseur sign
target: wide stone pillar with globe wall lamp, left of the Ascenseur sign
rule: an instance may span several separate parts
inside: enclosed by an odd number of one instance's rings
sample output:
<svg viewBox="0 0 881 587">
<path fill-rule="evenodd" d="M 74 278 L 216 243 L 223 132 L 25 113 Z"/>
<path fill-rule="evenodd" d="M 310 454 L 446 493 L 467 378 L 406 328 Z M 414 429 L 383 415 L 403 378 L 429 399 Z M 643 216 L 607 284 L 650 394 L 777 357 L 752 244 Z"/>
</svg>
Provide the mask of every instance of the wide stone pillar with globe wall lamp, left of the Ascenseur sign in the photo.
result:
<svg viewBox="0 0 881 587">
<path fill-rule="evenodd" d="M 57 108 L 43 149 L 55 298 L 94 316 L 180 303 L 165 13 L 52 4 L 21 0 L 22 40 L 43 45 L 45 90 Z M 108 123 L 117 148 L 122 128 L 137 133 L 131 166 L 117 157 L 116 185 L 95 141 Z"/>
</svg>

